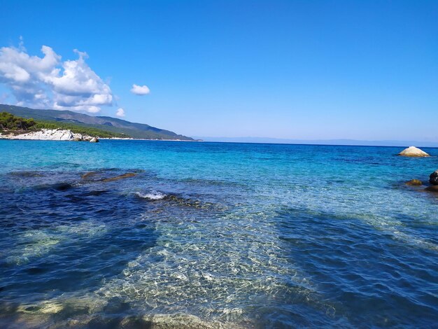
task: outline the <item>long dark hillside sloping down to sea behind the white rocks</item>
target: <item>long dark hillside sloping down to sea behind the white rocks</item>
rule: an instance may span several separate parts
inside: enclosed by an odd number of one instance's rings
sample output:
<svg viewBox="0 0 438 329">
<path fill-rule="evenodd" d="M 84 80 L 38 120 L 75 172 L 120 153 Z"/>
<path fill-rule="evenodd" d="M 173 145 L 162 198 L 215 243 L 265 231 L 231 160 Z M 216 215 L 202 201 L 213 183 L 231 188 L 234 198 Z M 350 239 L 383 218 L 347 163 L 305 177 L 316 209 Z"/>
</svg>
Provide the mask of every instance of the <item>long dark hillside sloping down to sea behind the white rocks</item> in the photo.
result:
<svg viewBox="0 0 438 329">
<path fill-rule="evenodd" d="M 125 134 L 127 137 L 134 139 L 178 139 L 183 141 L 194 141 L 191 137 L 183 136 L 152 127 L 143 123 L 130 123 L 126 120 L 111 118 L 108 116 L 87 116 L 87 114 L 73 111 L 57 110 L 36 110 L 22 106 L 13 106 L 0 104 L 0 112 L 9 112 L 14 116 L 22 118 L 33 118 L 34 120 L 43 120 L 50 122 L 73 123 L 80 127 L 97 128 L 106 132 L 115 132 Z"/>
</svg>

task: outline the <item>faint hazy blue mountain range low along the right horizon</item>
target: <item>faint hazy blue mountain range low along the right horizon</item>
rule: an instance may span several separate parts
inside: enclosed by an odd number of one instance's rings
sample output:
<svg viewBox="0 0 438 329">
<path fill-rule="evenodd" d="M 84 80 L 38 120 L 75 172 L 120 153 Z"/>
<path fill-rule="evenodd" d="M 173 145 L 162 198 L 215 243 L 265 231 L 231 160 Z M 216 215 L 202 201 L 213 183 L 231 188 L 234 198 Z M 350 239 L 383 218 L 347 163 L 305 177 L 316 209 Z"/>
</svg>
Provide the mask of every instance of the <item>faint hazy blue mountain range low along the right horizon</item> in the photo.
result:
<svg viewBox="0 0 438 329">
<path fill-rule="evenodd" d="M 221 141 L 227 143 L 259 144 L 310 144 L 310 145 L 345 145 L 345 146 L 421 146 L 438 147 L 438 141 L 360 141 L 355 139 L 276 139 L 269 137 L 195 137 L 203 141 Z"/>
</svg>

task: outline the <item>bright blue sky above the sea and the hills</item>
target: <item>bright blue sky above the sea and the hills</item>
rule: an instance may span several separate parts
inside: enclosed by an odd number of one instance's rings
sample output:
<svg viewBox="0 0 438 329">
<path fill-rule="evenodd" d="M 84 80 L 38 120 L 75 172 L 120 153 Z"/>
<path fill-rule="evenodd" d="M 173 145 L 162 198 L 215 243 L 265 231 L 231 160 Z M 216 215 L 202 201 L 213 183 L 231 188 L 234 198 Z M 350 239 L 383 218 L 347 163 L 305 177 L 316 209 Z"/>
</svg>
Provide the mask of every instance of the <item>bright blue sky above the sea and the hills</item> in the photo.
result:
<svg viewBox="0 0 438 329">
<path fill-rule="evenodd" d="M 59 76 L 43 83 L 49 105 L 56 93 L 82 104 L 59 79 L 77 49 L 111 94 L 98 115 L 122 108 L 126 120 L 201 137 L 438 141 L 437 1 L 0 0 L 0 8 L 0 47 L 43 57 L 47 45 L 62 56 Z M 0 82 L 3 102 L 19 102 L 5 73 Z M 133 84 L 150 93 L 133 94 Z"/>
</svg>

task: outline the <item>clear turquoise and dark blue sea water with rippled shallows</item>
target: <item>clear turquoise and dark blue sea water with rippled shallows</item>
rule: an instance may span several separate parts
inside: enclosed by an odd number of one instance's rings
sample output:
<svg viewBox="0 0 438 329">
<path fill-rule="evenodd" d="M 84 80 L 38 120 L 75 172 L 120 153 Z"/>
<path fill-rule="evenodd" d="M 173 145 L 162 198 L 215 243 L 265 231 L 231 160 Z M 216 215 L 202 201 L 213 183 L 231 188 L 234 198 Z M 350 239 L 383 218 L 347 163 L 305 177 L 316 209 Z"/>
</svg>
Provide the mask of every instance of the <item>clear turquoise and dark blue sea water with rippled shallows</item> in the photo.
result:
<svg viewBox="0 0 438 329">
<path fill-rule="evenodd" d="M 437 328 L 438 158 L 399 151 L 0 140 L 0 325 Z"/>
</svg>

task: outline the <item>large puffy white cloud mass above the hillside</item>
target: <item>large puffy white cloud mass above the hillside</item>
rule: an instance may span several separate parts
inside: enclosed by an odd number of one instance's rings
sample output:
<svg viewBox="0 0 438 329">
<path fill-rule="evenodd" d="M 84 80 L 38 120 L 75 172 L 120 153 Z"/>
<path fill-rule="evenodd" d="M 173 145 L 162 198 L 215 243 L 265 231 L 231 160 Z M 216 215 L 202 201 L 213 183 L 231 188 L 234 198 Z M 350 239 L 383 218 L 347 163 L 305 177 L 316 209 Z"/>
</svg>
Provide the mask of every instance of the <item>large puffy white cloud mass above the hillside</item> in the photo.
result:
<svg viewBox="0 0 438 329">
<path fill-rule="evenodd" d="M 17 105 L 97 113 L 112 105 L 111 88 L 85 62 L 87 53 L 74 50 L 76 60 L 62 62 L 47 45 L 43 57 L 20 47 L 0 48 L 0 83 L 12 91 Z"/>
</svg>

